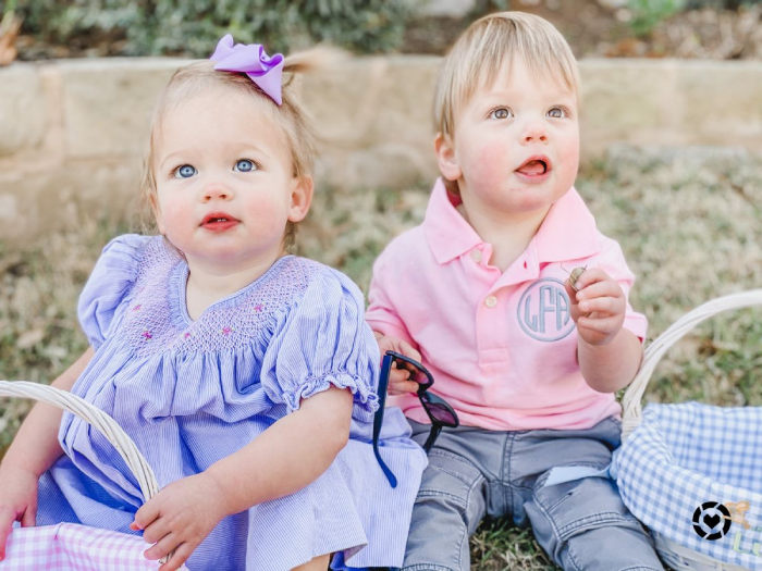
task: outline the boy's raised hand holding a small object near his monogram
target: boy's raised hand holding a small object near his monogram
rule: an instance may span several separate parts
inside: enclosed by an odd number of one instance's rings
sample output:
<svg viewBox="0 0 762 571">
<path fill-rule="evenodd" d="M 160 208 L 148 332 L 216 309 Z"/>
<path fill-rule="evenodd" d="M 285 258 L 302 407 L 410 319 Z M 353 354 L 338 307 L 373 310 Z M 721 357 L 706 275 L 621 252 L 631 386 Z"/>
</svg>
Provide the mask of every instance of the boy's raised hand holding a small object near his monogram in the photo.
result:
<svg viewBox="0 0 762 571">
<path fill-rule="evenodd" d="M 619 284 L 603 270 L 593 268 L 577 278 L 578 291 L 568 280 L 564 285 L 580 339 L 590 345 L 610 343 L 625 322 L 627 300 Z"/>
</svg>

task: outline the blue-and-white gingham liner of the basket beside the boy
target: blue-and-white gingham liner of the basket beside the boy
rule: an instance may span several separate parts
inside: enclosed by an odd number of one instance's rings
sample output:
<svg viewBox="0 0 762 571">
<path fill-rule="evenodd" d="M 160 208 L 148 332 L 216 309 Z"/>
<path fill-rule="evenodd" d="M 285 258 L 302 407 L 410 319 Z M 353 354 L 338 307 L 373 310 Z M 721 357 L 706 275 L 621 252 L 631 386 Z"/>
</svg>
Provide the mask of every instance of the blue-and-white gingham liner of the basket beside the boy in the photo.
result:
<svg viewBox="0 0 762 571">
<path fill-rule="evenodd" d="M 617 450 L 614 473 L 625 505 L 651 531 L 720 561 L 762 570 L 762 408 L 649 405 Z M 708 541 L 692 522 L 708 501 L 748 501 L 749 509 L 724 537 Z"/>
</svg>

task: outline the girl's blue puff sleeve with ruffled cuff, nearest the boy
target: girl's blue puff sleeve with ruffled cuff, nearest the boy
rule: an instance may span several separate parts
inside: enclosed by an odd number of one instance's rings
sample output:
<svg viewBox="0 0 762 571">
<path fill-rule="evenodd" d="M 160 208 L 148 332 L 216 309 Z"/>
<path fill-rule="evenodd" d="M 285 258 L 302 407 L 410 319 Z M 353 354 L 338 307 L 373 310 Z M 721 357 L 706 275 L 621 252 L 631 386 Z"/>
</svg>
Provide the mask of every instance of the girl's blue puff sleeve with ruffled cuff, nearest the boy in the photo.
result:
<svg viewBox="0 0 762 571">
<path fill-rule="evenodd" d="M 260 378 L 268 397 L 293 412 L 302 399 L 331 385 L 348 388 L 353 415 L 370 420 L 378 408 L 380 358 L 364 310 L 359 288 L 341 272 L 321 268 L 265 351 Z"/>
</svg>

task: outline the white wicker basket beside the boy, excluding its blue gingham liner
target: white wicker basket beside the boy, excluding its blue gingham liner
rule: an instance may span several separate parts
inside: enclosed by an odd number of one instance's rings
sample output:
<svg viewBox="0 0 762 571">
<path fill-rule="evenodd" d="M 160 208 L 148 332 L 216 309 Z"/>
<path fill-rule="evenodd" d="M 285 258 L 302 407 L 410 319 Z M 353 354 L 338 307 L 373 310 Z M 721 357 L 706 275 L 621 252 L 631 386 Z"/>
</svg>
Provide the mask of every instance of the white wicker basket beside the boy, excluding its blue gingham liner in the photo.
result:
<svg viewBox="0 0 762 571">
<path fill-rule="evenodd" d="M 643 361 L 640 365 L 640 370 L 636 375 L 635 380 L 627 389 L 623 399 L 623 429 L 622 429 L 622 440 L 623 448 L 620 451 L 627 447 L 627 439 L 630 434 L 638 429 L 642 422 L 642 410 L 641 410 L 641 398 L 648 386 L 648 382 L 655 369 L 659 360 L 666 352 L 666 350 L 674 345 L 678 339 L 680 339 L 686 333 L 692 330 L 697 324 L 702 321 L 716 315 L 723 311 L 728 311 L 732 309 L 741 309 L 753 306 L 762 306 L 762 289 L 755 289 L 750 291 L 743 291 L 740 294 L 734 294 L 725 297 L 716 298 L 709 301 L 693 311 L 687 313 L 675 322 L 669 328 L 667 328 L 662 335 L 660 335 L 653 343 L 649 345 L 646 349 Z M 676 405 L 674 407 L 680 407 Z M 729 409 L 732 410 L 732 409 Z M 762 409 L 760 409 L 760 414 L 762 417 Z M 634 434 L 634 437 L 636 434 Z M 627 466 L 618 467 L 619 474 L 617 475 L 617 481 L 622 485 L 623 471 Z M 687 471 L 686 471 L 687 472 Z M 762 467 L 759 470 L 759 479 L 762 481 Z M 733 489 L 732 486 L 725 486 L 722 482 L 717 483 L 714 489 Z M 760 497 L 759 493 L 750 493 L 754 497 Z M 626 495 L 623 491 L 623 499 Z M 705 500 L 720 499 L 720 498 L 705 498 Z M 741 498 L 737 498 L 741 499 Z M 625 500 L 625 504 L 628 504 Z M 668 508 L 669 506 L 667 506 Z M 647 518 L 642 518 L 640 513 L 632 506 L 628 505 L 628 508 L 639 518 L 643 523 L 651 527 L 651 522 L 646 521 Z M 762 506 L 757 506 L 758 509 L 762 509 Z M 686 521 L 686 525 L 690 524 L 690 520 Z M 669 530 L 671 531 L 671 530 Z M 730 564 L 723 562 L 718 559 L 709 557 L 702 553 L 699 553 L 692 548 L 688 548 L 680 543 L 669 539 L 660 533 L 659 530 L 651 527 L 651 532 L 654 536 L 656 549 L 660 553 L 662 559 L 669 564 L 673 569 L 680 570 L 691 570 L 691 571 L 739 571 L 743 569 L 749 569 L 748 567 L 739 567 L 737 564 Z M 698 537 L 698 536 L 696 536 Z M 691 537 L 691 541 L 696 541 L 696 537 Z M 725 537 L 727 538 L 727 537 Z M 725 539 L 724 538 L 724 539 Z M 720 542 L 705 542 L 699 543 L 702 550 L 709 549 L 709 546 L 717 546 Z M 762 566 L 762 558 L 759 559 L 760 566 Z M 754 569 L 762 569 L 762 567 L 757 567 L 754 563 Z"/>
</svg>

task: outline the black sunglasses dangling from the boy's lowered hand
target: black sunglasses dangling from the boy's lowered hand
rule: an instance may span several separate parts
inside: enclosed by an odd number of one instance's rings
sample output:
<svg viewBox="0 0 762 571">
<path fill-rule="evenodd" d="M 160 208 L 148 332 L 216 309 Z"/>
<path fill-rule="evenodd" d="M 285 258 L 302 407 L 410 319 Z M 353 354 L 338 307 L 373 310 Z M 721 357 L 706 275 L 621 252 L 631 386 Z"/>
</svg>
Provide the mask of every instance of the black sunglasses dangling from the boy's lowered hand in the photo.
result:
<svg viewBox="0 0 762 571">
<path fill-rule="evenodd" d="M 434 445 L 443 427 L 456 429 L 460 422 L 453 407 L 451 407 L 446 400 L 428 392 L 434 384 L 434 377 L 431 376 L 431 373 L 429 373 L 422 364 L 396 351 L 385 352 L 381 361 L 381 375 L 379 377 L 379 410 L 376 411 L 376 417 L 373 417 L 373 454 L 391 486 L 397 487 L 397 479 L 381 459 L 381 454 L 379 452 L 379 435 L 381 434 L 381 425 L 383 424 L 386 387 L 389 386 L 389 374 L 392 372 L 393 362 L 397 363 L 398 369 L 407 369 L 410 371 L 410 381 L 418 383 L 418 390 L 416 394 L 418 395 L 418 399 L 426 414 L 431 421 L 431 432 L 426 439 L 426 444 L 423 444 L 426 454 L 429 454 L 429 450 L 431 450 L 431 447 Z"/>
</svg>

